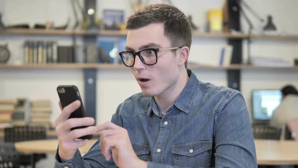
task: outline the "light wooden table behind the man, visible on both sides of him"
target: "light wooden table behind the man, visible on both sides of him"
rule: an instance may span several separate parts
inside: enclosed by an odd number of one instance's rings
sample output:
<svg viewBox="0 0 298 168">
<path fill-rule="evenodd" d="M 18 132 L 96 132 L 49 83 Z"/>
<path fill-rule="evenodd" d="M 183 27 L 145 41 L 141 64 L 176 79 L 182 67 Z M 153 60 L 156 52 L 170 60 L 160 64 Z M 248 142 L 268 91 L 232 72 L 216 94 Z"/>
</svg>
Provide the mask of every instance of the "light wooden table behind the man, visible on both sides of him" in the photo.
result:
<svg viewBox="0 0 298 168">
<path fill-rule="evenodd" d="M 87 145 L 79 148 L 86 153 L 96 142 L 87 141 Z M 58 140 L 38 140 L 17 142 L 16 148 L 24 153 L 56 153 Z M 255 140 L 259 165 L 298 164 L 298 141 Z"/>
</svg>

